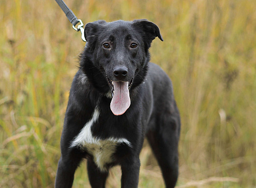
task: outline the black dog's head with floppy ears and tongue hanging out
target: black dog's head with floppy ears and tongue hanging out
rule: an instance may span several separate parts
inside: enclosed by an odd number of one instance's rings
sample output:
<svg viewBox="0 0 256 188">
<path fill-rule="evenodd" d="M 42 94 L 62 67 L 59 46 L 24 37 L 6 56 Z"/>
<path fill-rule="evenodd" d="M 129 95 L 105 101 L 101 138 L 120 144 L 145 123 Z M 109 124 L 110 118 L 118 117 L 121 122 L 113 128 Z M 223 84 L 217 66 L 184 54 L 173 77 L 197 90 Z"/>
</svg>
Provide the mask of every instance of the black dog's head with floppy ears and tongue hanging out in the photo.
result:
<svg viewBox="0 0 256 188">
<path fill-rule="evenodd" d="M 156 37 L 163 41 L 157 25 L 146 19 L 86 24 L 87 44 L 80 67 L 99 92 L 112 98 L 114 115 L 122 115 L 129 108 L 129 92 L 143 82 L 148 50 Z"/>
</svg>

